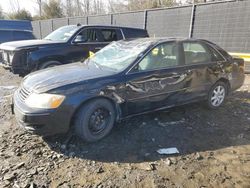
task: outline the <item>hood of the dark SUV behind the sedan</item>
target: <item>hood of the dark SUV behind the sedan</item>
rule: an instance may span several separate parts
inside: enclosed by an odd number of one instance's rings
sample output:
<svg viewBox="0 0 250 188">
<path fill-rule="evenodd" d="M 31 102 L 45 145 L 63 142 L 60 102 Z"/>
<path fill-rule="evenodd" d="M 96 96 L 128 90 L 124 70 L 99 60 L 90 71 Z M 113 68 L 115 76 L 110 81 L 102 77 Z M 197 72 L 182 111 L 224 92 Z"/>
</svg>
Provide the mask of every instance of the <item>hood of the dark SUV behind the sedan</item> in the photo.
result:
<svg viewBox="0 0 250 188">
<path fill-rule="evenodd" d="M 50 44 L 60 44 L 64 42 L 50 41 L 50 40 L 19 40 L 13 42 L 5 42 L 0 45 L 1 50 L 21 50 L 36 46 L 50 45 Z"/>
</svg>

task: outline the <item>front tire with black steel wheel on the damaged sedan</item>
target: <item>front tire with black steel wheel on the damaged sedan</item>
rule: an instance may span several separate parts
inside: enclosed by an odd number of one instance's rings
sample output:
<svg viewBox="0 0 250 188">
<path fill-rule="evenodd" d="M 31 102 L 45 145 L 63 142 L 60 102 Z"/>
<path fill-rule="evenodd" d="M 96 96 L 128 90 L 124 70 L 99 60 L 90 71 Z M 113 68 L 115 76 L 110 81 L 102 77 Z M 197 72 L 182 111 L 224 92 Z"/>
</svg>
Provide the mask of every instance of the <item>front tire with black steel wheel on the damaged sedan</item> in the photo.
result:
<svg viewBox="0 0 250 188">
<path fill-rule="evenodd" d="M 107 99 L 90 101 L 76 114 L 75 133 L 85 142 L 98 141 L 109 134 L 115 118 L 114 106 Z"/>
</svg>

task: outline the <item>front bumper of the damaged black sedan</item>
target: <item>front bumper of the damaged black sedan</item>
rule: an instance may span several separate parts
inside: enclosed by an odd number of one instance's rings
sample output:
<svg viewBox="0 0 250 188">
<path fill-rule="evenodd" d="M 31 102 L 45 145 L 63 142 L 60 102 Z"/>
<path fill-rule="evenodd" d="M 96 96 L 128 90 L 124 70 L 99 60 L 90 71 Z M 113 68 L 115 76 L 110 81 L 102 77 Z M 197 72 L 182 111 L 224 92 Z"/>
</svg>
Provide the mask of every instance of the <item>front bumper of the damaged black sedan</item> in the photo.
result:
<svg viewBox="0 0 250 188">
<path fill-rule="evenodd" d="M 70 127 L 71 116 L 65 110 L 32 109 L 19 98 L 18 91 L 13 97 L 12 111 L 21 127 L 37 135 L 62 134 Z"/>
</svg>

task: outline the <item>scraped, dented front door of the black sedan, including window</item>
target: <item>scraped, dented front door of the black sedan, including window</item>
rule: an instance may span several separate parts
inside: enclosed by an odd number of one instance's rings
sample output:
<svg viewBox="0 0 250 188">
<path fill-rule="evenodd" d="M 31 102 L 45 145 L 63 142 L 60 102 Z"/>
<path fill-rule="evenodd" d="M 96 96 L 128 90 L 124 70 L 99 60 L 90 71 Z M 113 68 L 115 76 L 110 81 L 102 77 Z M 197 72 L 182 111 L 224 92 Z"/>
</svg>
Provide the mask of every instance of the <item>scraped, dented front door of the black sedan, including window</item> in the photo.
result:
<svg viewBox="0 0 250 188">
<path fill-rule="evenodd" d="M 127 74 L 127 115 L 174 106 L 183 101 L 189 73 L 180 44 L 167 42 L 152 49 Z"/>
</svg>

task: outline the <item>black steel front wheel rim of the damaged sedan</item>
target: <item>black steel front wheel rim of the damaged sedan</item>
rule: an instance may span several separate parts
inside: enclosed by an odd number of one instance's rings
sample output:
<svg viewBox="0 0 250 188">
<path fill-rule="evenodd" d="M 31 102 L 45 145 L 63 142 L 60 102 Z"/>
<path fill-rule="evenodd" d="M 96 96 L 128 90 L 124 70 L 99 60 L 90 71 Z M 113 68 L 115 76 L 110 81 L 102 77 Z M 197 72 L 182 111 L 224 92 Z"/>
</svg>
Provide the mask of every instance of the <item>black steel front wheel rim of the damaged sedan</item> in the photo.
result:
<svg viewBox="0 0 250 188">
<path fill-rule="evenodd" d="M 99 134 L 110 122 L 110 112 L 105 108 L 96 109 L 89 118 L 89 130 L 92 134 Z"/>
</svg>

